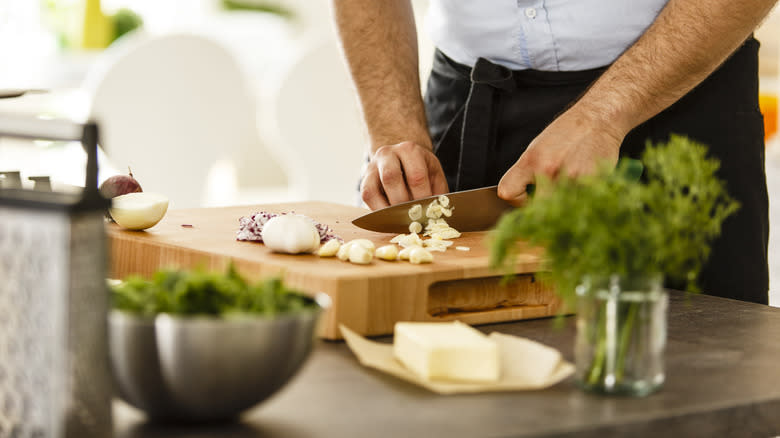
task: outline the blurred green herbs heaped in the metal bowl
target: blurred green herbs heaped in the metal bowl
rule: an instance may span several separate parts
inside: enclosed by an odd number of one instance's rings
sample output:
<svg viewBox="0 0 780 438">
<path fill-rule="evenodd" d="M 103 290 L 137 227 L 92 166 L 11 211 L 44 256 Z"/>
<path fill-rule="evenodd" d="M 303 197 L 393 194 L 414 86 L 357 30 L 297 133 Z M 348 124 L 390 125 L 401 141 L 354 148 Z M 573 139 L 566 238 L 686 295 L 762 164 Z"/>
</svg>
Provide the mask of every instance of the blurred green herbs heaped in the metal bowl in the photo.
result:
<svg viewBox="0 0 780 438">
<path fill-rule="evenodd" d="M 228 316 L 274 316 L 315 309 L 317 304 L 287 288 L 274 277 L 250 284 L 233 264 L 225 273 L 195 270 L 160 270 L 151 279 L 129 276 L 111 286 L 114 309 L 139 316 L 159 313 Z"/>
</svg>

